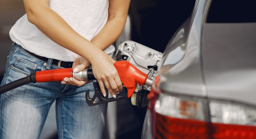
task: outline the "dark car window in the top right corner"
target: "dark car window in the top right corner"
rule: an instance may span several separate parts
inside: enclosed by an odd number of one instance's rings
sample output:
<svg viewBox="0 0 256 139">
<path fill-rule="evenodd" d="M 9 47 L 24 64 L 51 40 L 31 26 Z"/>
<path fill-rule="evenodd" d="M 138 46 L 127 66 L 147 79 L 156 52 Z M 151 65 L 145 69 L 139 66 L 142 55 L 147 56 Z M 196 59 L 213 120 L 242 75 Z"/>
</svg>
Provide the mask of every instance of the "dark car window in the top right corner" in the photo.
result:
<svg viewBox="0 0 256 139">
<path fill-rule="evenodd" d="M 255 0 L 212 0 L 207 23 L 256 22 Z"/>
</svg>

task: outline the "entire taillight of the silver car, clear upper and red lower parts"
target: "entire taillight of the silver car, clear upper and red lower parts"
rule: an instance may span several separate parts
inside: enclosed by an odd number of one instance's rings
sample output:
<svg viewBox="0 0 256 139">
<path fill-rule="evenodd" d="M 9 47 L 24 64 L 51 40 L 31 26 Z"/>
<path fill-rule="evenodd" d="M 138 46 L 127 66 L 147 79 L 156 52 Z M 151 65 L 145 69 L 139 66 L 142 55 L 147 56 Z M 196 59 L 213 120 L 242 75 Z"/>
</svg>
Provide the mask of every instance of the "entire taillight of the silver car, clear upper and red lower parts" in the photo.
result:
<svg viewBox="0 0 256 139">
<path fill-rule="evenodd" d="M 167 93 L 155 100 L 157 139 L 256 139 L 253 106 Z"/>
</svg>

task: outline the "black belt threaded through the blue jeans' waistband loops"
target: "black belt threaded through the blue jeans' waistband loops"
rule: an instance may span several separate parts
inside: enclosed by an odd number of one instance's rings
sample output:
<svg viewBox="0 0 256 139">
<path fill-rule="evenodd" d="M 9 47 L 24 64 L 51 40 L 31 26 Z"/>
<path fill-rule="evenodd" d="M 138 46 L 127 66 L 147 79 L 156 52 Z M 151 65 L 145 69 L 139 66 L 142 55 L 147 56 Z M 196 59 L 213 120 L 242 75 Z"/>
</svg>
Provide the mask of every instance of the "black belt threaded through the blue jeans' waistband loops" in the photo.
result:
<svg viewBox="0 0 256 139">
<path fill-rule="evenodd" d="M 25 49 L 24 49 L 25 50 Z M 44 62 L 48 62 L 48 59 L 47 57 L 42 57 L 42 56 L 38 56 L 28 50 L 25 50 L 26 52 L 28 52 L 30 55 L 44 61 Z M 64 61 L 61 61 L 61 60 L 57 60 L 57 59 L 53 59 L 53 62 L 52 62 L 53 65 L 56 65 L 58 66 L 59 68 L 72 68 L 72 65 L 73 65 L 73 62 L 64 62 Z"/>
</svg>

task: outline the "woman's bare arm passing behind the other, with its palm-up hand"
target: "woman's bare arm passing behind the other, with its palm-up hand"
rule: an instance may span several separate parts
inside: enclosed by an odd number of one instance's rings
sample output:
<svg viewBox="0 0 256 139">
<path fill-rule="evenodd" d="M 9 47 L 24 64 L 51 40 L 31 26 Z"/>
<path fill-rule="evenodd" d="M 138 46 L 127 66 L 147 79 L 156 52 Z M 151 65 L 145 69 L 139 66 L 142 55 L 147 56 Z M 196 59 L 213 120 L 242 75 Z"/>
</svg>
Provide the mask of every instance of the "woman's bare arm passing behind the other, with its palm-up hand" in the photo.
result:
<svg viewBox="0 0 256 139">
<path fill-rule="evenodd" d="M 126 23 L 127 13 L 130 5 L 130 0 L 109 0 L 109 17 L 108 21 L 102 30 L 91 40 L 93 44 L 99 47 L 101 50 L 106 49 L 120 36 Z M 78 57 L 73 67 L 78 71 L 82 71 L 85 67 L 90 66 L 90 63 L 82 57 Z M 72 81 L 71 81 L 72 80 Z M 63 84 L 68 83 L 72 85 L 81 86 L 87 81 L 78 81 L 71 77 L 71 80 L 66 77 L 62 81 Z M 114 92 L 118 92 L 122 87 L 118 87 L 115 90 L 108 89 L 111 95 L 115 95 Z M 114 97 L 114 96 L 113 96 Z"/>
</svg>

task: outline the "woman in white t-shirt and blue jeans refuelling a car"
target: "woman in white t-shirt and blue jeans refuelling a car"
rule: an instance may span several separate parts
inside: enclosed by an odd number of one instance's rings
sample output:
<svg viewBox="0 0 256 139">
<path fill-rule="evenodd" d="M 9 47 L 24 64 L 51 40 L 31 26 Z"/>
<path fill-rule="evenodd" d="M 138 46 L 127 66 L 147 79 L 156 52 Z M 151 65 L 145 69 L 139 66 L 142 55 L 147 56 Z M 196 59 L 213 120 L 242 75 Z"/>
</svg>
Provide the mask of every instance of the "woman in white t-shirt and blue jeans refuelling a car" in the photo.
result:
<svg viewBox="0 0 256 139">
<path fill-rule="evenodd" d="M 91 64 L 103 95 L 105 84 L 116 97 L 122 82 L 115 61 L 102 50 L 121 34 L 130 0 L 23 2 L 26 14 L 10 30 L 15 43 L 1 85 L 36 71 L 72 66 L 79 72 Z M 101 138 L 107 107 L 88 107 L 88 89 L 93 90 L 92 83 L 66 77 L 61 83 L 27 84 L 2 94 L 0 138 L 39 138 L 54 100 L 59 138 Z"/>
</svg>

